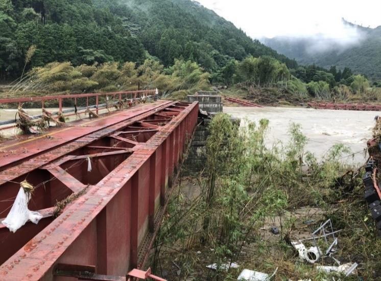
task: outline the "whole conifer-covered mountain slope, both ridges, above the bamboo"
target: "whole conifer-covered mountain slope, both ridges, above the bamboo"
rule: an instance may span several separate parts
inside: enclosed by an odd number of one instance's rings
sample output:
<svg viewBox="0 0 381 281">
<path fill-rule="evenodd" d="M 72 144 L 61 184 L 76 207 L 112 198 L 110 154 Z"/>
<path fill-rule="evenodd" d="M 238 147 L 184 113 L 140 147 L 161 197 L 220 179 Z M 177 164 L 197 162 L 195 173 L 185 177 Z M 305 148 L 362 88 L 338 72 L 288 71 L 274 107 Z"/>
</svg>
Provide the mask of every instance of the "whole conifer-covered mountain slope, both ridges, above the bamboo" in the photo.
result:
<svg viewBox="0 0 381 281">
<path fill-rule="evenodd" d="M 25 61 L 31 45 L 36 50 Z M 0 78 L 46 63 L 73 65 L 132 61 L 147 56 L 164 66 L 198 62 L 213 73 L 229 60 L 270 55 L 295 61 L 252 40 L 190 0 L 0 0 Z"/>
</svg>

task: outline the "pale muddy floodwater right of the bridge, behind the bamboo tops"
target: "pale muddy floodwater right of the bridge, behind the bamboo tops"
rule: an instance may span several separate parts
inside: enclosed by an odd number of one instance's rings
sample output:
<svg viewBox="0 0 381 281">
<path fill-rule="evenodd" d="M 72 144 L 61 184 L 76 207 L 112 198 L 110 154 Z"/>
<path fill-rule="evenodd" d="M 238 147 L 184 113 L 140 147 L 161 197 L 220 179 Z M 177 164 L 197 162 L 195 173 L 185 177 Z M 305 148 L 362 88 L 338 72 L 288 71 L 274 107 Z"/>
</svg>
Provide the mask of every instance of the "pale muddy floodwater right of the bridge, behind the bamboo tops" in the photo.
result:
<svg viewBox="0 0 381 281">
<path fill-rule="evenodd" d="M 267 146 L 281 142 L 289 142 L 288 129 L 290 123 L 299 123 L 302 132 L 308 138 L 306 150 L 321 159 L 335 144 L 348 146 L 352 155 L 343 157 L 343 161 L 351 164 L 363 164 L 367 159 L 364 154 L 366 143 L 372 137 L 374 117 L 381 115 L 378 111 L 325 110 L 312 108 L 285 107 L 224 107 L 224 112 L 233 117 L 258 123 L 260 119 L 270 121 L 267 134 Z"/>
</svg>

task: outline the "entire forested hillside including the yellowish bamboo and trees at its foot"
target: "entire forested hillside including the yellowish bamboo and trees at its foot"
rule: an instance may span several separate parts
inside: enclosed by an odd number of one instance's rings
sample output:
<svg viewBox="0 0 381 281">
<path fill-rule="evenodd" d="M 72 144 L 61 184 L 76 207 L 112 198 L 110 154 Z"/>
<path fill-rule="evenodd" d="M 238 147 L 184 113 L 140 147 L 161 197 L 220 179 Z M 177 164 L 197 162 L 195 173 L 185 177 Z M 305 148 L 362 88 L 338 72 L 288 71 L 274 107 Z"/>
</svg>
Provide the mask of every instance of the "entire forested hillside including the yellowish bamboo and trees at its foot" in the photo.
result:
<svg viewBox="0 0 381 281">
<path fill-rule="evenodd" d="M 157 87 L 183 99 L 211 85 L 253 99 L 266 93 L 263 103 L 379 96 L 365 76 L 299 66 L 194 1 L 0 0 L 0 7 L 0 80 L 16 79 L 9 96 Z"/>
</svg>

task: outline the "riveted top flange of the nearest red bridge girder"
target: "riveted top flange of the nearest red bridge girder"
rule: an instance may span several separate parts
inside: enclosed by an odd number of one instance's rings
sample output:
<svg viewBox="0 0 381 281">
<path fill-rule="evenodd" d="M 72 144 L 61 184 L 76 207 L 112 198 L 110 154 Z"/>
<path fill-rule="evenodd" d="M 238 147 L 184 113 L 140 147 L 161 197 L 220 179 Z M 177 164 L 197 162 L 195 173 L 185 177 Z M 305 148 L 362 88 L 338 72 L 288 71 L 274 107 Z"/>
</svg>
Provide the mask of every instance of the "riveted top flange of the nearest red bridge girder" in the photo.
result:
<svg viewBox="0 0 381 281">
<path fill-rule="evenodd" d="M 154 135 L 148 143 L 139 144 L 139 149 L 130 158 L 116 167 L 97 185 L 90 186 L 85 195 L 68 206 L 50 226 L 17 251 L 0 267 L 0 275 L 4 280 L 14 280 L 15 278 L 38 280 L 44 276 L 67 247 L 79 237 L 124 184 L 131 180 L 140 166 L 151 157 L 155 152 L 155 147 L 157 148 L 168 138 L 196 105 L 197 102 L 190 104 L 169 124 L 162 127 L 160 132 Z"/>
</svg>

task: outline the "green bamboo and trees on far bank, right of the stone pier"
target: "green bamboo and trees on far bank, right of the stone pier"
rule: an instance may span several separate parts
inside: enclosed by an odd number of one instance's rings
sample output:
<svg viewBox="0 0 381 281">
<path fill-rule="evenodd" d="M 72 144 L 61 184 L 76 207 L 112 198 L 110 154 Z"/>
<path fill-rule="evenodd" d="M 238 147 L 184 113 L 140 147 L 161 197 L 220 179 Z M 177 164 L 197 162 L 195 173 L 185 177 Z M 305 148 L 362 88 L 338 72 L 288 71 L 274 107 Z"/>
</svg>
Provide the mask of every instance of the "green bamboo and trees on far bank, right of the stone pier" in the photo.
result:
<svg viewBox="0 0 381 281">
<path fill-rule="evenodd" d="M 326 70 L 314 65 L 290 69 L 268 56 L 230 61 L 222 69 L 221 77 L 225 85 L 245 90 L 242 97 L 263 104 L 279 104 L 282 100 L 295 104 L 311 99 L 347 102 L 381 99 L 379 88 L 371 88 L 365 76 L 354 75 L 349 68 L 343 72 L 336 67 Z"/>
</svg>

